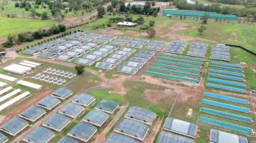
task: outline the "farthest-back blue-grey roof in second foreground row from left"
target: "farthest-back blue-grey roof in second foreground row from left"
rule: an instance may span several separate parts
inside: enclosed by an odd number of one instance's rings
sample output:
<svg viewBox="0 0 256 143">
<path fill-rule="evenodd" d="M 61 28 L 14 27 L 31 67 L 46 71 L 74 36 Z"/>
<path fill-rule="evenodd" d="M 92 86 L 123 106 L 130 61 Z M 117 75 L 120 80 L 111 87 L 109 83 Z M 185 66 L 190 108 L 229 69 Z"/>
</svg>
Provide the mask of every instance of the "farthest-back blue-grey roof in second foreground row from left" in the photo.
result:
<svg viewBox="0 0 256 143">
<path fill-rule="evenodd" d="M 78 94 L 72 102 L 88 107 L 93 101 L 95 97 L 91 94 Z"/>
</svg>

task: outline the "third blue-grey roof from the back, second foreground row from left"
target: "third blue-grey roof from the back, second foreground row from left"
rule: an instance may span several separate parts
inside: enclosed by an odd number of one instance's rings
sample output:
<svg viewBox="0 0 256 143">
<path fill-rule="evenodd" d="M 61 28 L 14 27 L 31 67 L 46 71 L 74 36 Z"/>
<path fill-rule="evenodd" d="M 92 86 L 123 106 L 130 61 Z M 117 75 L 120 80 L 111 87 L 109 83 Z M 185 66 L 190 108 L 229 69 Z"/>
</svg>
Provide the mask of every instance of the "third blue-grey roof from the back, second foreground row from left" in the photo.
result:
<svg viewBox="0 0 256 143">
<path fill-rule="evenodd" d="M 56 131 L 60 131 L 70 122 L 70 118 L 66 117 L 63 114 L 54 114 L 52 117 L 43 122 L 43 126 L 49 127 Z"/>
</svg>

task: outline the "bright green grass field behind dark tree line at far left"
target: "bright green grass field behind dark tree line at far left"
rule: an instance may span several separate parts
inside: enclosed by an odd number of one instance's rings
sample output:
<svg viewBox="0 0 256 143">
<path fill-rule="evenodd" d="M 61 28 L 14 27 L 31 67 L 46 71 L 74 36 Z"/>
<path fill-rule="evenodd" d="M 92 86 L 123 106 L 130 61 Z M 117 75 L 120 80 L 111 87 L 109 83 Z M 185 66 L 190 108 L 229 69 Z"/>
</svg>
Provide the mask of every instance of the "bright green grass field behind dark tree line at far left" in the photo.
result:
<svg viewBox="0 0 256 143">
<path fill-rule="evenodd" d="M 0 37 L 8 36 L 9 34 L 19 34 L 25 31 L 33 31 L 42 29 L 47 26 L 56 24 L 57 21 L 42 21 L 37 19 L 27 18 L 5 18 L 0 17 Z"/>
</svg>

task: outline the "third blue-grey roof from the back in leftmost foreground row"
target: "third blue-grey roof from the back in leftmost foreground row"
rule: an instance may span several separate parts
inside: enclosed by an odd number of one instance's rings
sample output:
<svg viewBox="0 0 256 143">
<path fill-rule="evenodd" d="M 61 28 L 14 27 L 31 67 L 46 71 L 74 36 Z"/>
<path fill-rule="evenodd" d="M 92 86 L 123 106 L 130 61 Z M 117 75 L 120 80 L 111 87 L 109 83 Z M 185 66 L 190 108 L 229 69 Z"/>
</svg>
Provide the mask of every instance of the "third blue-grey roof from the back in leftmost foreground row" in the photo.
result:
<svg viewBox="0 0 256 143">
<path fill-rule="evenodd" d="M 25 119 L 29 119 L 29 121 L 34 122 L 36 119 L 38 119 L 45 113 L 46 113 L 45 109 L 42 109 L 41 107 L 37 107 L 34 105 L 32 107 L 29 107 L 29 109 L 26 109 L 19 116 L 24 117 Z"/>
</svg>

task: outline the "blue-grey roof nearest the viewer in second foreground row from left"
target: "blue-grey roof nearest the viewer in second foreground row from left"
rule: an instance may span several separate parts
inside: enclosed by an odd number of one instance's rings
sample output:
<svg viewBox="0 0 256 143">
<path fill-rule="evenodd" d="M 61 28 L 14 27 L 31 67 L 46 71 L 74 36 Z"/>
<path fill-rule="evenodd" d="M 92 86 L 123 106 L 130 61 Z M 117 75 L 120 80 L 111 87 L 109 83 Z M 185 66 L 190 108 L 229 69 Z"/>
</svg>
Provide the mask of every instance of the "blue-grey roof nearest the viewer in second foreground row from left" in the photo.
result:
<svg viewBox="0 0 256 143">
<path fill-rule="evenodd" d="M 46 129 L 45 127 L 37 127 L 32 132 L 27 134 L 23 140 L 29 143 L 47 143 L 50 142 L 50 139 L 52 139 L 54 136 L 54 132 L 52 132 L 50 129 Z"/>
</svg>

